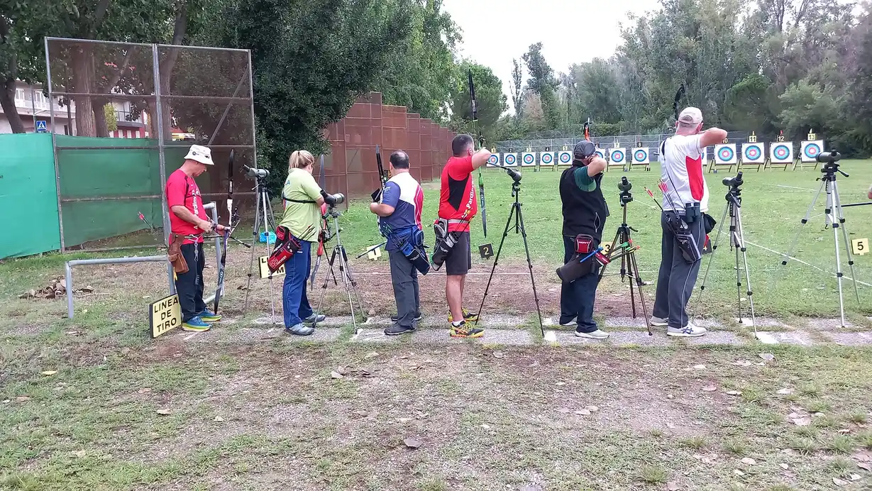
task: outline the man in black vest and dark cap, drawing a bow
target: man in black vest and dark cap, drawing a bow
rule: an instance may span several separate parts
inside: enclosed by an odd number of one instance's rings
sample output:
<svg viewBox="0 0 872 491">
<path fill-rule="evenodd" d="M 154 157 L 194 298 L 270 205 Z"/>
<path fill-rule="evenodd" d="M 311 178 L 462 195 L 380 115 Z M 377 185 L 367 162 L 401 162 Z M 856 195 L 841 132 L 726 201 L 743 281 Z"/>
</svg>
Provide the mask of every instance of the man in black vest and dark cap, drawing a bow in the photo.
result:
<svg viewBox="0 0 872 491">
<path fill-rule="evenodd" d="M 578 261 L 576 237 L 587 235 L 592 239 L 592 248 L 603 240 L 605 219 L 609 208 L 605 204 L 600 181 L 607 163 L 596 155 L 596 147 L 588 140 L 578 143 L 572 152 L 572 167 L 560 176 L 560 200 L 563 205 L 563 263 Z M 587 256 L 584 254 L 583 256 Z M 594 322 L 594 300 L 599 283 L 599 267 L 590 257 L 589 273 L 571 283 L 563 283 L 560 291 L 560 324 L 572 325 L 577 319 L 576 336 L 580 338 L 605 339 L 607 332 L 600 331 Z"/>
</svg>

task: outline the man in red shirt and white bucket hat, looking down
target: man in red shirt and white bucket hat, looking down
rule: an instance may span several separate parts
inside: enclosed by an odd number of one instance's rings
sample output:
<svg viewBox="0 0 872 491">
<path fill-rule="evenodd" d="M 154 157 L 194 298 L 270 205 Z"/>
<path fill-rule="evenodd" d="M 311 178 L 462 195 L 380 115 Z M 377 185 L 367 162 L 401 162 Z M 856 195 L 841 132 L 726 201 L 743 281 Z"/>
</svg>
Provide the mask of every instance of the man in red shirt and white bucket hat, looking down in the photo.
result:
<svg viewBox="0 0 872 491">
<path fill-rule="evenodd" d="M 194 177 L 213 165 L 215 162 L 208 147 L 192 145 L 185 163 L 167 179 L 169 222 L 172 234 L 181 235 L 181 255 L 187 263 L 187 272 L 176 273 L 175 278 L 175 290 L 181 305 L 181 329 L 184 331 L 208 331 L 209 323 L 221 320 L 221 316 L 208 310 L 203 302 L 203 267 L 206 265 L 203 234 L 223 232 L 224 226 L 208 220 L 200 188 L 194 181 Z"/>
</svg>

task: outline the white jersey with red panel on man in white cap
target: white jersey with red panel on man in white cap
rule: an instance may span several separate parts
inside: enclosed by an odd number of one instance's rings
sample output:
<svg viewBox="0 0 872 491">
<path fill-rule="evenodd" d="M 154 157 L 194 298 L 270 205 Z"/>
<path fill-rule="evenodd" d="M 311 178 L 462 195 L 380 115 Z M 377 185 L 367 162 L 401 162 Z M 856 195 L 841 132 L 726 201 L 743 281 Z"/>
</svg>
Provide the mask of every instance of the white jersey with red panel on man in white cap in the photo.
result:
<svg viewBox="0 0 872 491">
<path fill-rule="evenodd" d="M 702 135 L 677 134 L 660 144 L 660 179 L 666 183 L 663 208 L 684 214 L 686 203 L 699 203 L 708 211 L 708 185 L 703 177 L 705 148 L 699 147 Z"/>
</svg>

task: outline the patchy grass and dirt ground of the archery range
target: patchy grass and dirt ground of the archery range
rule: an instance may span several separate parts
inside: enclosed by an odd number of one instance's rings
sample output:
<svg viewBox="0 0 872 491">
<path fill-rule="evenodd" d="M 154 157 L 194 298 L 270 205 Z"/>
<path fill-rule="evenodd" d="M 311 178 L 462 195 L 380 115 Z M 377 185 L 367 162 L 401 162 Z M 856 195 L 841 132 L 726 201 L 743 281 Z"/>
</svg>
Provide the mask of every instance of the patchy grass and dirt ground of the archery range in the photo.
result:
<svg viewBox="0 0 872 491">
<path fill-rule="evenodd" d="M 842 201 L 867 201 L 870 164 L 844 162 L 851 177 L 840 176 Z M 612 212 L 607 236 L 620 222 L 621 175 L 611 171 L 603 180 Z M 652 281 L 659 210 L 644 186 L 656 189 L 658 173 L 626 175 L 636 198 L 629 221 L 643 246 L 639 264 Z M 726 204 L 720 180 L 730 175 L 706 174 L 718 220 Z M 792 322 L 837 313 L 833 235 L 823 229 L 821 205 L 796 253 L 810 265 L 792 262 L 780 271 L 772 252 L 789 246 L 819 175 L 745 175 L 758 315 Z M 525 173 L 521 193 L 542 309 L 551 316 L 562 259 L 556 181 L 549 170 Z M 494 248 L 512 201 L 510 184 L 501 171 L 487 171 L 487 242 Z M 429 222 L 437 185 L 427 183 L 425 193 Z M 872 235 L 872 209 L 846 211 L 852 238 Z M 341 222 L 353 255 L 380 242 L 364 201 L 351 203 Z M 432 242 L 432 229 L 426 234 Z M 476 219 L 473 244 L 481 242 Z M 494 277 L 486 314 L 515 318 L 514 329 L 535 334 L 520 236 L 509 235 L 503 255 L 497 270 L 504 274 Z M 66 260 L 92 256 L 112 253 L 0 262 L 0 489 L 872 488 L 869 347 L 420 344 L 414 337 L 423 332 L 399 344 L 366 344 L 351 339 L 350 325 L 332 343 L 290 339 L 254 323 L 269 312 L 269 282 L 255 280 L 252 304 L 242 312 L 245 291 L 238 289 L 246 285 L 249 254 L 238 246 L 228 256 L 221 303 L 230 322 L 216 326 L 212 341 L 187 333 L 148 338 L 147 304 L 167 289 L 158 263 L 76 269 L 77 287 L 93 292 L 76 296 L 74 319 L 65 318 L 63 299 L 18 297 L 62 275 Z M 214 262 L 213 250 L 208 257 Z M 734 315 L 733 257 L 721 242 L 705 297 L 691 303 L 699 315 Z M 856 258 L 862 282 L 872 283 L 870 261 Z M 473 263 L 477 275 L 467 290 L 477 306 L 492 263 L 477 257 Z M 365 309 L 392 313 L 386 261 L 361 259 L 352 267 Z M 207 290 L 214 288 L 215 268 L 206 276 Z M 861 285 L 859 305 L 850 283 L 845 287 L 851 321 L 868 330 L 869 287 Z M 422 279 L 427 318 L 444 318 L 442 288 L 442 276 Z M 608 278 L 597 317 L 626 316 L 625 289 Z M 650 305 L 653 287 L 645 290 Z M 346 314 L 344 292 L 327 291 L 324 310 Z M 745 328 L 723 329 L 750 338 Z M 245 338 L 250 331 L 257 336 Z"/>
</svg>

